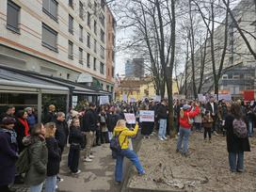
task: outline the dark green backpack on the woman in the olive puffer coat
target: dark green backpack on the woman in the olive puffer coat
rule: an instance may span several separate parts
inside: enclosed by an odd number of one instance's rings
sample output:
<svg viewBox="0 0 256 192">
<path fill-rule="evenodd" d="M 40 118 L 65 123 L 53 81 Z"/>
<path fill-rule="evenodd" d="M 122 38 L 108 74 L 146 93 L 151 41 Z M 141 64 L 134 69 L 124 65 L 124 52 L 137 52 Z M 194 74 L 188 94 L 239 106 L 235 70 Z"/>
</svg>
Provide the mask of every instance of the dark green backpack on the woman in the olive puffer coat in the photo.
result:
<svg viewBox="0 0 256 192">
<path fill-rule="evenodd" d="M 26 147 L 26 148 L 24 148 L 24 151 L 20 153 L 19 158 L 18 158 L 17 162 L 15 163 L 17 172 L 19 174 L 27 172 L 29 169 L 29 164 L 30 164 L 29 148 Z"/>
</svg>

